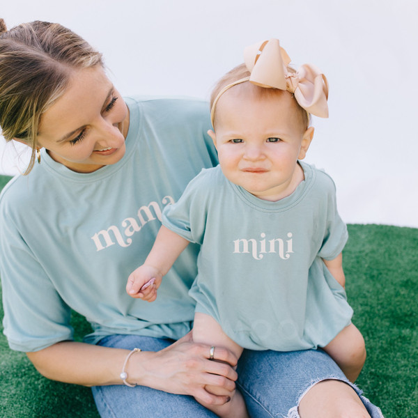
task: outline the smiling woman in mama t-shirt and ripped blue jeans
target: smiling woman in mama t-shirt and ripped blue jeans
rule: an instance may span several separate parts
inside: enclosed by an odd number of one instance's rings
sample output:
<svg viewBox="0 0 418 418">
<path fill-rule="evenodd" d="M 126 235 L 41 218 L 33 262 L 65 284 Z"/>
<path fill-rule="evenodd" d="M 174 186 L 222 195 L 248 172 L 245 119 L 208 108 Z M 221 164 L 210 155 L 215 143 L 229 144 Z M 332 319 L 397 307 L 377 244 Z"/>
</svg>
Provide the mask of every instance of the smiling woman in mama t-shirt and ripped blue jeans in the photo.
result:
<svg viewBox="0 0 418 418">
<path fill-rule="evenodd" d="M 0 199 L 10 347 L 47 378 L 93 387 L 102 417 L 213 417 L 192 396 L 223 404 L 235 381 L 252 417 L 380 417 L 323 352 L 247 350 L 235 371 L 229 351 L 193 343 L 196 247 L 157 302 L 125 293 L 162 208 L 217 164 L 206 103 L 123 100 L 100 54 L 59 24 L 1 21 L 0 32 L 2 134 L 32 148 L 30 175 Z M 70 309 L 93 327 L 84 343 L 72 341 Z"/>
</svg>

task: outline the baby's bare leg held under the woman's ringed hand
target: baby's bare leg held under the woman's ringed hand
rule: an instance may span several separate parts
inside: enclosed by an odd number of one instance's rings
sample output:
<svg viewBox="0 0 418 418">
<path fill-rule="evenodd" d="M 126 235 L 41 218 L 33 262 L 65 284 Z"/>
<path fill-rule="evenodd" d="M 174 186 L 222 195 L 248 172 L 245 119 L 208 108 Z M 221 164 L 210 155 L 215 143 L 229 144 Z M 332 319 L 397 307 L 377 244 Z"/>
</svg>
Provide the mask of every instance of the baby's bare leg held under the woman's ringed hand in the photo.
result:
<svg viewBox="0 0 418 418">
<path fill-rule="evenodd" d="M 215 347 L 213 350 L 213 360 L 216 361 L 216 348 L 224 347 L 230 350 L 236 357 L 240 357 L 242 354 L 242 347 L 238 346 L 233 340 L 227 336 L 222 327 L 217 323 L 212 316 L 196 312 L 194 314 L 194 325 L 193 325 L 193 341 L 196 343 L 205 343 L 209 346 Z M 217 393 L 219 389 L 217 387 L 206 386 L 205 389 L 212 394 Z M 206 405 L 199 399 L 196 399 L 199 403 L 206 406 L 215 414 L 222 418 L 247 418 L 247 408 L 245 407 L 244 398 L 239 391 L 235 391 L 231 401 L 224 405 Z"/>
</svg>

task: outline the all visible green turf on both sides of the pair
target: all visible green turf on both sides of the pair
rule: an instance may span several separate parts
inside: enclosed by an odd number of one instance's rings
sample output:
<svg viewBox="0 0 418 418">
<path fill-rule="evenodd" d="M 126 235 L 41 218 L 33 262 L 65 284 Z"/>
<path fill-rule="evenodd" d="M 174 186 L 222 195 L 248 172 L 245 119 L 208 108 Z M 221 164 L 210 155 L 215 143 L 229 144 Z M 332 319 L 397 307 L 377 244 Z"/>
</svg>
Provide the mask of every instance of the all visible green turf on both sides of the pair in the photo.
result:
<svg viewBox="0 0 418 418">
<path fill-rule="evenodd" d="M 0 189 L 8 179 L 0 176 Z M 348 300 L 367 348 L 357 384 L 386 418 L 418 417 L 418 229 L 349 225 L 348 230 Z M 74 314 L 72 323 L 78 340 L 89 332 L 81 316 Z M 3 334 L 0 387 L 0 417 L 98 418 L 90 389 L 43 378 L 26 355 L 8 349 Z"/>
</svg>

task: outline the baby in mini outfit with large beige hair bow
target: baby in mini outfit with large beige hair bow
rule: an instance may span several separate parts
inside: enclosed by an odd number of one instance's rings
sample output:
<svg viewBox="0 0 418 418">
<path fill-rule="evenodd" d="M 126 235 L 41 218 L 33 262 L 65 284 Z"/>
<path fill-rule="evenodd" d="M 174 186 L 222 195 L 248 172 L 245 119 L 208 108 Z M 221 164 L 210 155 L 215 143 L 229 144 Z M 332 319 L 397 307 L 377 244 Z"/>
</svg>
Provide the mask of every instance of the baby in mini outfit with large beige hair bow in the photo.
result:
<svg viewBox="0 0 418 418">
<path fill-rule="evenodd" d="M 212 346 L 211 359 L 216 346 L 237 357 L 243 348 L 320 347 L 354 381 L 366 350 L 344 291 L 347 229 L 332 179 L 301 161 L 314 136 L 310 114 L 328 116 L 327 79 L 314 65 L 295 71 L 289 62 L 272 39 L 248 47 L 245 65 L 218 82 L 208 133 L 219 166 L 201 171 L 165 208 L 127 292 L 155 300 L 164 274 L 197 242 L 193 339 Z M 206 407 L 221 417 L 248 416 L 238 391 L 229 403 Z"/>
</svg>

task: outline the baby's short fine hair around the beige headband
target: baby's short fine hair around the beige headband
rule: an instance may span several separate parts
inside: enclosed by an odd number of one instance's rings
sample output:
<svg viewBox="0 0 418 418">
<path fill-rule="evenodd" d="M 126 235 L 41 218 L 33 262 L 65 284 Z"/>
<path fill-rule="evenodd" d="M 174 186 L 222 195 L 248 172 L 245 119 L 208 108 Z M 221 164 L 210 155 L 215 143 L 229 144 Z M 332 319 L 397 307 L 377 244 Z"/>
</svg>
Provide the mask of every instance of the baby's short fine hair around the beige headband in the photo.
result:
<svg viewBox="0 0 418 418">
<path fill-rule="evenodd" d="M 287 70 L 288 72 L 295 72 L 295 69 L 289 66 L 287 67 Z M 234 82 L 237 82 L 240 79 L 249 77 L 250 75 L 251 75 L 251 72 L 249 72 L 249 70 L 247 70 L 247 66 L 242 63 L 240 65 L 237 65 L 235 68 L 233 68 L 232 70 L 227 72 L 223 77 L 221 77 L 218 80 L 218 82 L 215 84 L 215 87 L 213 88 L 212 93 L 210 94 L 210 109 L 212 109 L 215 99 L 217 98 L 217 95 L 219 94 L 219 92 L 222 91 L 222 88 L 224 88 L 225 86 L 229 86 L 229 84 L 233 84 Z M 251 90 L 254 91 L 256 95 L 258 95 L 258 97 L 261 97 L 261 98 L 284 93 L 283 90 L 279 90 L 277 88 L 260 87 L 260 86 L 256 86 L 255 84 L 251 84 L 249 82 L 236 84 L 234 88 L 235 87 L 251 88 Z M 303 109 L 299 103 L 297 103 L 296 100 L 295 100 L 295 105 L 297 107 L 297 112 L 300 114 L 301 124 L 306 129 L 310 123 L 310 116 L 307 113 L 307 111 Z M 214 124 L 215 124 L 215 121 L 216 121 L 216 109 L 215 109 L 215 114 L 214 114 Z"/>
</svg>

